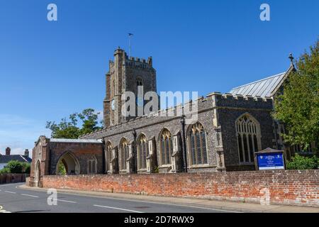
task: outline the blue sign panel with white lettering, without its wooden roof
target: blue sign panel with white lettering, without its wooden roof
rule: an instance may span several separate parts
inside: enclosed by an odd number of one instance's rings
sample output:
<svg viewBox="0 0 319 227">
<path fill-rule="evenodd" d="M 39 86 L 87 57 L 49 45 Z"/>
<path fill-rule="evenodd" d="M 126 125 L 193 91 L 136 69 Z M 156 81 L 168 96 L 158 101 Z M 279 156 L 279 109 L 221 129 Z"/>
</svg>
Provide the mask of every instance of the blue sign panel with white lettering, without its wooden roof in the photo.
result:
<svg viewBox="0 0 319 227">
<path fill-rule="evenodd" d="M 257 154 L 259 170 L 284 170 L 283 153 L 260 153 Z"/>
</svg>

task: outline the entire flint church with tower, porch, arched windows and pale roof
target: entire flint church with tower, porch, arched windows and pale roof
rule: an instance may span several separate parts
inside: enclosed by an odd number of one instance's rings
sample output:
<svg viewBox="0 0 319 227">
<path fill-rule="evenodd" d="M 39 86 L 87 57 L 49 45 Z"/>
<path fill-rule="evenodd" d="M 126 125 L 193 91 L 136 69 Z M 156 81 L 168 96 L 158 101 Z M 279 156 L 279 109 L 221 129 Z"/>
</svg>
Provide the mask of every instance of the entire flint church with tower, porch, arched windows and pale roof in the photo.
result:
<svg viewBox="0 0 319 227">
<path fill-rule="evenodd" d="M 290 58 L 286 72 L 229 93 L 212 92 L 168 110 L 126 116 L 123 94 L 138 96 L 140 87 L 143 94 L 157 93 L 157 74 L 152 57 L 129 57 L 118 48 L 106 74 L 104 128 L 77 140 L 40 136 L 33 148 L 30 184 L 40 186 L 43 175 L 59 175 L 60 165 L 67 175 L 160 174 L 255 170 L 254 153 L 266 148 L 285 150 L 289 158 L 291 148 L 280 135 L 284 127 L 272 111 L 274 96 L 295 70 Z M 196 121 L 189 123 L 183 109 L 195 105 Z"/>
</svg>

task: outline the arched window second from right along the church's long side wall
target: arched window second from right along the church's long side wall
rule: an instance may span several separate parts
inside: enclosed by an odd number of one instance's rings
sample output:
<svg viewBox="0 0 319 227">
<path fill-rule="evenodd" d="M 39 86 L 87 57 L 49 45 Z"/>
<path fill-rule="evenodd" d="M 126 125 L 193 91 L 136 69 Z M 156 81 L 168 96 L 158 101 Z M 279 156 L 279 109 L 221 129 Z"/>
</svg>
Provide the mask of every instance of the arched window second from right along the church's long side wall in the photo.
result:
<svg viewBox="0 0 319 227">
<path fill-rule="evenodd" d="M 173 153 L 173 141 L 171 133 L 165 128 L 159 138 L 161 165 L 170 165 Z"/>
</svg>

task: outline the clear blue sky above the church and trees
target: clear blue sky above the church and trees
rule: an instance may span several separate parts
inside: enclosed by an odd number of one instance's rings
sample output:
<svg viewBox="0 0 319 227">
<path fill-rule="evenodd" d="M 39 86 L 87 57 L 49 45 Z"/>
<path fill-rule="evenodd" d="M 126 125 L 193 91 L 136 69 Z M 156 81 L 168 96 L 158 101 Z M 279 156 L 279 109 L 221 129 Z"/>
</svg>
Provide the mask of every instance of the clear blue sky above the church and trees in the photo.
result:
<svg viewBox="0 0 319 227">
<path fill-rule="evenodd" d="M 158 92 L 206 95 L 287 70 L 289 52 L 318 38 L 318 15 L 317 0 L 0 0 L 0 153 L 32 149 L 48 120 L 102 110 L 108 60 L 129 32 L 133 56 L 153 57 Z"/>
</svg>

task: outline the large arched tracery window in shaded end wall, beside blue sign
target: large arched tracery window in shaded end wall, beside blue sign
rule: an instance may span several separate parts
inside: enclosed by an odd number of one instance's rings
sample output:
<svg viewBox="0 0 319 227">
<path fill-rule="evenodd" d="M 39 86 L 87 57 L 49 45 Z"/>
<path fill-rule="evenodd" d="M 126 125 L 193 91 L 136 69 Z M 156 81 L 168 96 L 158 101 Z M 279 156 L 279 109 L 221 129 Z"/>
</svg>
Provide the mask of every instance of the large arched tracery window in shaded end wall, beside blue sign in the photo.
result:
<svg viewBox="0 0 319 227">
<path fill-rule="evenodd" d="M 236 137 L 240 162 L 254 162 L 254 152 L 260 150 L 259 123 L 248 114 L 236 121 Z"/>
</svg>

